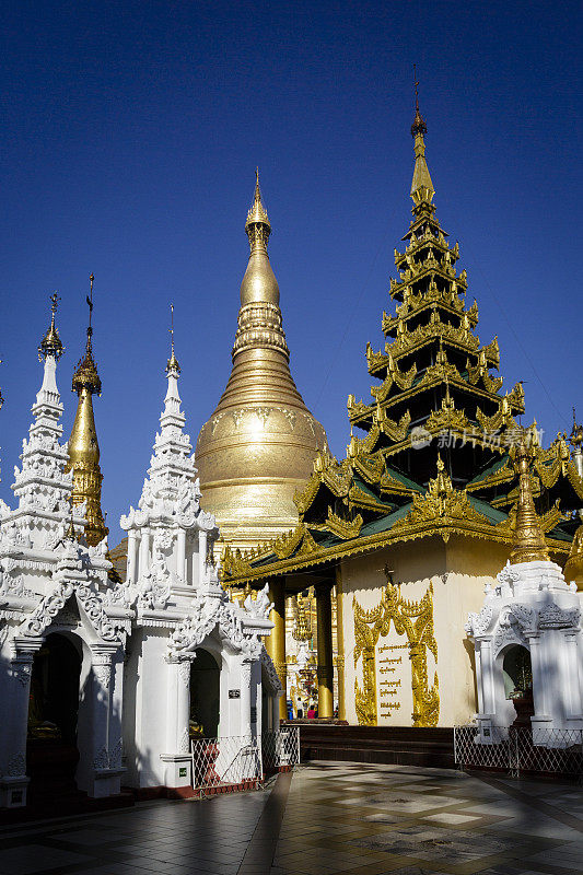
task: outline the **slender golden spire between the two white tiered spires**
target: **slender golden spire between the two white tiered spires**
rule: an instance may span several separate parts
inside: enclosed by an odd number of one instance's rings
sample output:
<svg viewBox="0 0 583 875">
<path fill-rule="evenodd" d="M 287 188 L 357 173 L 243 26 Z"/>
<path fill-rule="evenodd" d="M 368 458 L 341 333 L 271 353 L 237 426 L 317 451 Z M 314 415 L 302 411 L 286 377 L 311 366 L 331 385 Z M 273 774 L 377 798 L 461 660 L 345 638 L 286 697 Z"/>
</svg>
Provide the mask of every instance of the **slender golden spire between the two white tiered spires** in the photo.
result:
<svg viewBox="0 0 583 875">
<path fill-rule="evenodd" d="M 96 546 L 107 535 L 107 528 L 101 506 L 103 476 L 100 468 L 100 444 L 92 398 L 93 395 L 101 395 L 102 392 L 102 382 L 93 358 L 93 273 L 89 279 L 90 293 L 86 298 L 89 324 L 85 354 L 77 365 L 72 381 L 72 390 L 77 392 L 79 401 L 69 439 L 68 470 L 73 471 L 73 504 L 85 503 L 86 506 L 85 537 L 88 544 Z"/>
</svg>

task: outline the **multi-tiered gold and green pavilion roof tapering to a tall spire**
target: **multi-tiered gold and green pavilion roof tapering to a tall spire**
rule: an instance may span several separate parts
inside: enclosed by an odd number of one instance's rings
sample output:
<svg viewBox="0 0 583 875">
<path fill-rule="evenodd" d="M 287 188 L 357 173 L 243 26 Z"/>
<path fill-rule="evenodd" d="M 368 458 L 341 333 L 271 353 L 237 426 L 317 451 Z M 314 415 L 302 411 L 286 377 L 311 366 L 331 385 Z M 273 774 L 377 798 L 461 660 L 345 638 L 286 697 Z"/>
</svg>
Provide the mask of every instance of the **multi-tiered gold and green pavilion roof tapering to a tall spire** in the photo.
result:
<svg viewBox="0 0 583 875">
<path fill-rule="evenodd" d="M 536 423 L 524 430 L 517 421 L 522 383 L 502 394 L 502 377 L 492 375 L 498 340 L 482 345 L 475 334 L 478 306 L 466 304 L 459 246 L 448 243 L 435 217 L 418 104 L 411 133 L 412 220 L 405 250 L 395 250 L 399 277 L 389 293 L 396 310 L 383 314 L 384 348 L 366 346 L 377 381 L 372 400 L 349 395 L 347 457 L 318 453 L 295 497 L 293 532 L 252 555 L 228 551 L 224 576 L 235 583 L 454 533 L 506 545 L 509 553 L 514 545 L 513 561 L 548 556 L 547 549 L 561 559 L 569 550 L 571 515 L 583 506 L 583 465 L 579 470 L 562 435 L 543 450 Z M 528 491 L 525 460 L 518 453 L 515 467 L 512 459 L 517 440 L 528 446 Z M 543 533 L 538 540 L 535 529 Z"/>
</svg>

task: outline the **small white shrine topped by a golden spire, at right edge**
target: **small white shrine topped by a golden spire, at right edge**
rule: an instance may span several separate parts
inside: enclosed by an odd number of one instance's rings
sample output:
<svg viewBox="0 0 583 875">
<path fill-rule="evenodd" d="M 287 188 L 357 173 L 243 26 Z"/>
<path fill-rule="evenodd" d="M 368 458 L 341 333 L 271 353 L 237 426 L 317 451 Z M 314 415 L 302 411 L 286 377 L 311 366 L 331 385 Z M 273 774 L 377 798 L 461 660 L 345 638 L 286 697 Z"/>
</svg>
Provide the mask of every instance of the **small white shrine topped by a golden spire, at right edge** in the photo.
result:
<svg viewBox="0 0 583 875">
<path fill-rule="evenodd" d="M 466 625 L 475 646 L 477 742 L 491 744 L 514 724 L 529 725 L 535 745 L 561 747 L 573 740 L 568 731 L 583 730 L 581 594 L 549 561 L 525 444 L 518 444 L 516 463 L 511 559 Z"/>
</svg>

